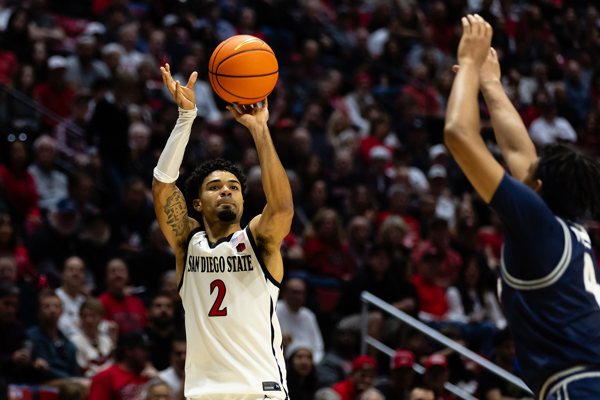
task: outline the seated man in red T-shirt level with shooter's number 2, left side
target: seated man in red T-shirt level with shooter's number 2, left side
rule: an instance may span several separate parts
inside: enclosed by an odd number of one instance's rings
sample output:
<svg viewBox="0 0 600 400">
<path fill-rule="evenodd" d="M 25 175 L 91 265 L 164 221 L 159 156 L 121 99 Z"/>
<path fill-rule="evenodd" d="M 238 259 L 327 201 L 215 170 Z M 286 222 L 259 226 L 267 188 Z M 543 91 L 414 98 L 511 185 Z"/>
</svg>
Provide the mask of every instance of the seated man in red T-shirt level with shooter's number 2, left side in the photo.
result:
<svg viewBox="0 0 600 400">
<path fill-rule="evenodd" d="M 118 323 L 121 334 L 135 332 L 148 325 L 142 300 L 125 293 L 128 281 L 127 264 L 121 258 L 113 258 L 106 264 L 106 291 L 98 299 L 104 306 L 104 317 Z"/>
</svg>

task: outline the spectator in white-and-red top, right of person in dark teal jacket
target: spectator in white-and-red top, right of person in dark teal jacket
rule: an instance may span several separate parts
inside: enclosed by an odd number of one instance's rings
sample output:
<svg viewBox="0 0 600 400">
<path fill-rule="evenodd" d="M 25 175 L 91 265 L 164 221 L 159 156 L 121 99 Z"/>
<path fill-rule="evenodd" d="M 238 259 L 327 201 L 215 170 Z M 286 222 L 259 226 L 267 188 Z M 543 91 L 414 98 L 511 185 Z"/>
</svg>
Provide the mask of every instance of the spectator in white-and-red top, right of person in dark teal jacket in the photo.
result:
<svg viewBox="0 0 600 400">
<path fill-rule="evenodd" d="M 77 349 L 77 364 L 86 377 L 93 377 L 113 365 L 111 357 L 115 341 L 98 329 L 104 318 L 104 306 L 98 299 L 89 297 L 79 310 L 80 329 L 71 341 Z"/>
</svg>

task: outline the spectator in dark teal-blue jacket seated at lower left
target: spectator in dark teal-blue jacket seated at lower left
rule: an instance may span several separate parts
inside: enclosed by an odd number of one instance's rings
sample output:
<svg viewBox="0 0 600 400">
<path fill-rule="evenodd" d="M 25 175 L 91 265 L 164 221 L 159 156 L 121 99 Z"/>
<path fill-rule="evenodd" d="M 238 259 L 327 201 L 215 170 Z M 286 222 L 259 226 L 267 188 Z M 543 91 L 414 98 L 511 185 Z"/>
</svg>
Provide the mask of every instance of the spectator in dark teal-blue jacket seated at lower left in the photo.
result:
<svg viewBox="0 0 600 400">
<path fill-rule="evenodd" d="M 61 299 L 50 289 L 41 291 L 39 299 L 40 325 L 29 328 L 27 337 L 33 342 L 32 358 L 46 363 L 43 368 L 34 362 L 34 368 L 40 369 L 42 381 L 79 376 L 75 346 L 58 329 Z"/>
</svg>

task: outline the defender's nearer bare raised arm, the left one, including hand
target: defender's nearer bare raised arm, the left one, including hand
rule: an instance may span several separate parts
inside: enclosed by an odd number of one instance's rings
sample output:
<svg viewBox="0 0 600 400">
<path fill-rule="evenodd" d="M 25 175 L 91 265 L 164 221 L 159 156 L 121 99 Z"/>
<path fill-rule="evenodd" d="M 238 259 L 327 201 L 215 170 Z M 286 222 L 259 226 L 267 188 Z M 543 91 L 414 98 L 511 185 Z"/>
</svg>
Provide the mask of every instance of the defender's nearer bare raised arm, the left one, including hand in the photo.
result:
<svg viewBox="0 0 600 400">
<path fill-rule="evenodd" d="M 462 23 L 460 68 L 448 99 L 444 140 L 475 190 L 489 203 L 504 175 L 479 131 L 479 69 L 490 49 L 492 29 L 478 15 L 463 17 Z"/>
</svg>

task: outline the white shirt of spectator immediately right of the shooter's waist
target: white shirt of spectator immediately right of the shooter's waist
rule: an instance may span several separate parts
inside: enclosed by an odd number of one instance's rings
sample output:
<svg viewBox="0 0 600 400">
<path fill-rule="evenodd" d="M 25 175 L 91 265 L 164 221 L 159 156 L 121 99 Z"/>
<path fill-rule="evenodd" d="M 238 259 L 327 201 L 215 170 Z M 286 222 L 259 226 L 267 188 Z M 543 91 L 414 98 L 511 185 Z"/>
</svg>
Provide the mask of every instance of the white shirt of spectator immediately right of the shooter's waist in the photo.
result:
<svg viewBox="0 0 600 400">
<path fill-rule="evenodd" d="M 325 354 L 323 336 L 317 318 L 310 309 L 302 306 L 298 312 L 293 312 L 285 300 L 277 302 L 277 319 L 281 332 L 292 335 L 292 343 L 308 344 L 313 349 L 313 362 L 319 363 Z"/>
</svg>

